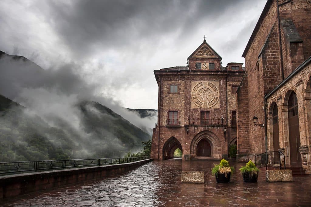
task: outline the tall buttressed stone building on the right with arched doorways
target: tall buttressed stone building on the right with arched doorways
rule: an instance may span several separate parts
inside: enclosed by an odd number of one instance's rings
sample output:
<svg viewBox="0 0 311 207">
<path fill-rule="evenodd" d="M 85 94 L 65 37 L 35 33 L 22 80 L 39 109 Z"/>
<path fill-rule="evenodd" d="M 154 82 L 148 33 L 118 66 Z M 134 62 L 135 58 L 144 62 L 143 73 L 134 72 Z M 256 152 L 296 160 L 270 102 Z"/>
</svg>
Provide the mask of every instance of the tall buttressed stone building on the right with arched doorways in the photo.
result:
<svg viewBox="0 0 311 207">
<path fill-rule="evenodd" d="M 242 55 L 246 72 L 237 92 L 239 160 L 279 147 L 286 167 L 311 171 L 310 28 L 311 1 L 267 1 Z M 297 109 L 290 108 L 293 103 Z M 255 126 L 253 116 L 265 127 Z"/>
</svg>

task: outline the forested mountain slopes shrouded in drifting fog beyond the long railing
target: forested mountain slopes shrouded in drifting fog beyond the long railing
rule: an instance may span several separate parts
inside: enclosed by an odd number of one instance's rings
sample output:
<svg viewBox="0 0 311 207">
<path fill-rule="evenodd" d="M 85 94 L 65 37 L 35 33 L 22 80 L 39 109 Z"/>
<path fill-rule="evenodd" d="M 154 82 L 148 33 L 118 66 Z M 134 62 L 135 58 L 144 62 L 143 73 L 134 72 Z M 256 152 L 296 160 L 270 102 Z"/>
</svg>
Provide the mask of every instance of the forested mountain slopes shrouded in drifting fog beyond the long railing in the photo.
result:
<svg viewBox="0 0 311 207">
<path fill-rule="evenodd" d="M 59 153 L 66 158 L 77 156 L 76 151 L 79 156 L 92 157 L 123 156 L 142 149 L 141 142 L 151 139 L 156 116 L 140 117 L 112 99 L 94 95 L 96 85 L 83 80 L 79 67 L 72 63 L 44 70 L 24 57 L 0 53 L 0 94 L 26 107 L 2 107 L 0 139 L 8 144 L 2 147 L 11 147 L 11 137 L 13 148 L 28 149 L 35 136 L 37 145 L 44 140 L 49 143 L 45 145 L 60 147 Z M 32 150 L 41 153 L 37 159 L 53 158 L 48 151 Z"/>
</svg>

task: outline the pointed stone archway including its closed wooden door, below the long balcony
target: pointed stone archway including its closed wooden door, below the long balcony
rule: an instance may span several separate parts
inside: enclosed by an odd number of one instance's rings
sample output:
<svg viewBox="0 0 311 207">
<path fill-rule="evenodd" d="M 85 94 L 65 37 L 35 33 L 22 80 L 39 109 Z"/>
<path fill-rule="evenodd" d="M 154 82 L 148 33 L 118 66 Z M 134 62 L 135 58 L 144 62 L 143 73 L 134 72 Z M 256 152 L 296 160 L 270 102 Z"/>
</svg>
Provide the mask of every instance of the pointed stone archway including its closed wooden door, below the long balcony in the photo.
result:
<svg viewBox="0 0 311 207">
<path fill-rule="evenodd" d="M 204 130 L 193 137 L 190 154 L 194 157 L 206 156 L 221 158 L 219 138 L 211 131 Z"/>
</svg>

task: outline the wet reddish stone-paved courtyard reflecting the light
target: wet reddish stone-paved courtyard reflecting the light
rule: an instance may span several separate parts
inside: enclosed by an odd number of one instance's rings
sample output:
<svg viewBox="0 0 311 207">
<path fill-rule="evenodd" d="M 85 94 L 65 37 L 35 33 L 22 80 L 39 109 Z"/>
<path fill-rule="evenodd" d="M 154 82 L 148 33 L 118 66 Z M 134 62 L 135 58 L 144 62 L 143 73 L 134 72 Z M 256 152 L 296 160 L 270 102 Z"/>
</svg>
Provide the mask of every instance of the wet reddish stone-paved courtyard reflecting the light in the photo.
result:
<svg viewBox="0 0 311 207">
<path fill-rule="evenodd" d="M 217 161 L 153 161 L 126 174 L 6 200 L 4 206 L 311 206 L 311 177 L 294 182 L 244 183 L 235 167 L 230 183 L 211 175 Z M 204 184 L 181 183 L 181 171 L 205 171 Z M 1 204 L 0 204 L 1 205 Z"/>
</svg>

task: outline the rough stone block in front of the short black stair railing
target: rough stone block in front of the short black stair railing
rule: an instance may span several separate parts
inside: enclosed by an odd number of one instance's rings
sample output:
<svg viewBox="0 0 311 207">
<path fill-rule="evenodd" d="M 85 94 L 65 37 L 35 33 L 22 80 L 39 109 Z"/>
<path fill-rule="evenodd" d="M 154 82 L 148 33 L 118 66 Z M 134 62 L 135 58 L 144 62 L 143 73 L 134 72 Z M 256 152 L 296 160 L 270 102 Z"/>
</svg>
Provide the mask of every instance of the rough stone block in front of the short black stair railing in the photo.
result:
<svg viewBox="0 0 311 207">
<path fill-rule="evenodd" d="M 293 182 L 291 170 L 266 170 L 267 182 Z"/>
</svg>

